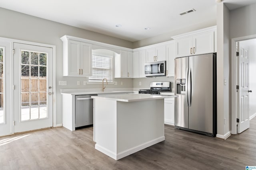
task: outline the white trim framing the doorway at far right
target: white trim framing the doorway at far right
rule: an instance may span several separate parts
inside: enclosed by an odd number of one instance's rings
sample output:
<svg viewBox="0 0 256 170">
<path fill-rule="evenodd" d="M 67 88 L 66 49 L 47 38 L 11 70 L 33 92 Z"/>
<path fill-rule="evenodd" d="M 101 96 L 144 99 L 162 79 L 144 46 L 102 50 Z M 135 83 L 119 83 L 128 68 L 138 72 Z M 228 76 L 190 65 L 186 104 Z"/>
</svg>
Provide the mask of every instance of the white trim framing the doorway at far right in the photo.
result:
<svg viewBox="0 0 256 170">
<path fill-rule="evenodd" d="M 248 39 L 255 39 L 256 34 L 254 35 L 248 35 L 244 37 L 237 37 L 231 39 L 231 134 L 235 135 L 237 134 L 237 128 L 236 128 L 236 118 L 237 118 L 237 96 L 236 96 L 236 82 L 237 82 L 237 64 L 236 64 L 236 42 L 248 40 Z"/>
</svg>

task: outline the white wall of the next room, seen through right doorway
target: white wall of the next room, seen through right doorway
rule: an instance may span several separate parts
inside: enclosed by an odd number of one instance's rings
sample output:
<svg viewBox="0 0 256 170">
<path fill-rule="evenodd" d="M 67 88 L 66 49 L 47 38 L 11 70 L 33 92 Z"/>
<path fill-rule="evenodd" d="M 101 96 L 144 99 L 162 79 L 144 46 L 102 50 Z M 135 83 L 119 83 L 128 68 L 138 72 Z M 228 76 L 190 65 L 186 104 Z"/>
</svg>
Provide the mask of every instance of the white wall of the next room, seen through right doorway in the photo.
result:
<svg viewBox="0 0 256 170">
<path fill-rule="evenodd" d="M 256 113 L 256 39 L 239 42 L 241 46 L 248 48 L 249 63 L 249 88 L 252 90 L 249 98 L 249 115 Z"/>
</svg>

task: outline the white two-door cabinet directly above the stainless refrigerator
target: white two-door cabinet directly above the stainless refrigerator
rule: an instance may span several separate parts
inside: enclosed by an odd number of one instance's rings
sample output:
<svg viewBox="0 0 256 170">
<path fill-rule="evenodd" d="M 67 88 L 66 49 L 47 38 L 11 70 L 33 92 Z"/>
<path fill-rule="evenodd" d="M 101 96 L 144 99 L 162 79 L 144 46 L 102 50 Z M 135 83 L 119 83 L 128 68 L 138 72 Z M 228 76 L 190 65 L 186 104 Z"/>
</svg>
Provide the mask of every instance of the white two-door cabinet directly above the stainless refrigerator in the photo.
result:
<svg viewBox="0 0 256 170">
<path fill-rule="evenodd" d="M 216 26 L 172 38 L 176 41 L 176 57 L 216 52 Z"/>
</svg>

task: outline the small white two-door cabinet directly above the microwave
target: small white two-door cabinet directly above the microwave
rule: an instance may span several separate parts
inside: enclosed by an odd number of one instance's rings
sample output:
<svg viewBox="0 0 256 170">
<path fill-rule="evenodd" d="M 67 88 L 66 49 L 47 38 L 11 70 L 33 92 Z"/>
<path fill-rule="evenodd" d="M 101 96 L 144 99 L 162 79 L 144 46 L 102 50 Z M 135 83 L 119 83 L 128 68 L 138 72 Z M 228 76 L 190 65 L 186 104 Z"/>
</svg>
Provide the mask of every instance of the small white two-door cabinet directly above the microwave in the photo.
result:
<svg viewBox="0 0 256 170">
<path fill-rule="evenodd" d="M 165 45 L 146 49 L 146 62 L 166 61 Z"/>
</svg>

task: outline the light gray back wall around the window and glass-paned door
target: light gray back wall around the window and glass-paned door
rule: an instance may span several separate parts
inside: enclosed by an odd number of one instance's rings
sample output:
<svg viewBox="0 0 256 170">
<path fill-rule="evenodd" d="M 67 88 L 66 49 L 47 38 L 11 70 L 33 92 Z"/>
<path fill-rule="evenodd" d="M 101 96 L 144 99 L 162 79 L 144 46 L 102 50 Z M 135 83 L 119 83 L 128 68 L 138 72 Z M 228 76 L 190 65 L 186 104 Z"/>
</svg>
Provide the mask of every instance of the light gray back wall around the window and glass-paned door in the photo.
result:
<svg viewBox="0 0 256 170">
<path fill-rule="evenodd" d="M 132 48 L 132 42 L 130 41 L 110 37 L 100 33 L 87 31 L 49 20 L 44 20 L 19 12 L 6 10 L 4 8 L 0 8 L 0 16 L 2 16 L 0 25 L 0 37 L 56 45 L 56 124 L 62 123 L 62 96 L 60 94 L 60 89 L 101 88 L 100 84 L 83 86 L 83 81 L 86 80 L 86 78 L 62 76 L 62 41 L 60 40 L 60 37 L 63 35 L 71 35 L 74 37 Z M 67 86 L 58 86 L 59 80 L 66 80 Z M 80 86 L 76 85 L 77 81 L 80 81 Z M 133 86 L 132 79 L 118 78 L 114 81 L 117 81 L 118 85 L 107 85 L 107 88 L 132 88 Z M 123 86 L 120 85 L 121 81 L 123 82 Z"/>
</svg>

